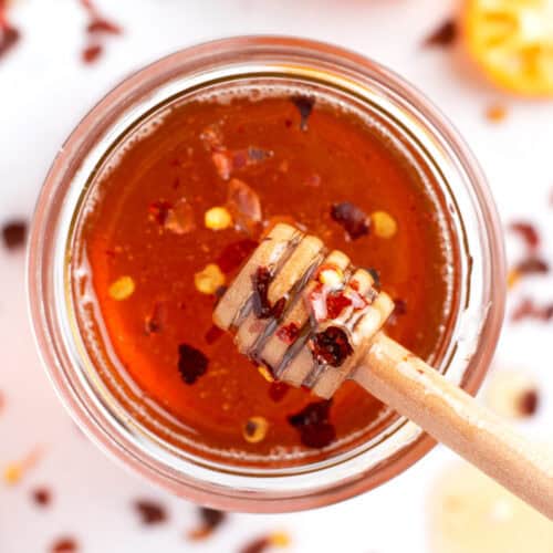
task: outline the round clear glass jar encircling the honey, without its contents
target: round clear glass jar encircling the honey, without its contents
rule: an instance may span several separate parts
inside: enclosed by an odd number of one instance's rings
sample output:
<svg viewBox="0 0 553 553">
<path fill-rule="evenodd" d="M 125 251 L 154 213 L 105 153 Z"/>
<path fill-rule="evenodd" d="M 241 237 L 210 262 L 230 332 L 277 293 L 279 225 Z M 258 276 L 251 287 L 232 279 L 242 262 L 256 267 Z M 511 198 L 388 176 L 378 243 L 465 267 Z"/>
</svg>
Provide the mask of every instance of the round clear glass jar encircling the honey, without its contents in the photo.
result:
<svg viewBox="0 0 553 553">
<path fill-rule="evenodd" d="M 104 451 L 178 495 L 254 512 L 309 509 L 362 493 L 407 469 L 434 441 L 399 418 L 361 447 L 285 469 L 232 468 L 189 455 L 145 427 L 136 409 L 100 377 L 75 322 L 69 267 L 83 198 L 132 129 L 199 90 L 273 80 L 324 87 L 364 105 L 417 152 L 439 181 L 458 238 L 461 274 L 459 307 L 435 365 L 469 393 L 478 389 L 489 366 L 504 306 L 501 229 L 486 180 L 444 115 L 390 71 L 324 43 L 247 36 L 177 52 L 118 85 L 63 145 L 38 201 L 28 263 L 38 346 L 60 398 Z"/>
</svg>

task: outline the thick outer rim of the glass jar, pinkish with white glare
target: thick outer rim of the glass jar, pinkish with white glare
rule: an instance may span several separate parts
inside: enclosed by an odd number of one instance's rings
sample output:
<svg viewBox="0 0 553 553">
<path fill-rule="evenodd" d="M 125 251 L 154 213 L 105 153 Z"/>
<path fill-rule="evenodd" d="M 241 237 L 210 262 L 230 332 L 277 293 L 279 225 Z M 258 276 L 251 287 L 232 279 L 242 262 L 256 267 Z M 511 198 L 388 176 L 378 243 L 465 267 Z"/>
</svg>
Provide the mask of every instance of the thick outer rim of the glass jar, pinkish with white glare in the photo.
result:
<svg viewBox="0 0 553 553">
<path fill-rule="evenodd" d="M 28 289 L 30 312 L 39 351 L 59 396 L 83 430 L 112 457 L 134 468 L 147 479 L 171 492 L 212 507 L 250 511 L 290 511 L 327 504 L 366 491 L 388 480 L 422 457 L 434 441 L 411 422 L 404 425 L 401 444 L 387 462 L 356 456 L 324 469 L 278 478 L 244 474 L 216 474 L 209 468 L 169 462 L 169 453 L 153 450 L 147 438 L 123 431 L 111 420 L 102 398 L 91 397 L 73 363 L 79 346 L 66 340 L 71 322 L 60 316 L 55 298 L 65 290 L 59 271 L 65 251 L 56 239 L 71 223 L 63 211 L 82 194 L 74 182 L 86 178 L 93 167 L 86 164 L 91 152 L 102 149 L 102 140 L 113 140 L 116 125 L 128 125 L 138 111 L 155 106 L 161 97 L 181 94 L 182 86 L 228 75 L 268 73 L 300 74 L 355 90 L 382 95 L 388 108 L 416 117 L 425 139 L 434 140 L 450 158 L 467 186 L 465 208 L 473 210 L 472 242 L 480 249 L 467 270 L 476 279 L 467 298 L 463 328 L 467 366 L 458 374 L 459 384 L 474 393 L 486 374 L 499 336 L 504 307 L 504 254 L 499 218 L 486 180 L 474 158 L 450 123 L 418 91 L 393 72 L 353 52 L 330 44 L 284 36 L 242 36 L 199 44 L 164 58 L 138 71 L 109 92 L 77 125 L 64 144 L 41 191 L 29 242 Z M 242 73 L 239 73 L 239 72 Z M 146 103 L 145 103 L 146 98 Z M 140 106 L 139 109 L 137 106 Z M 135 111 L 134 111 L 135 109 Z M 136 111 L 138 109 L 138 111 Z M 105 147 L 105 145 L 103 146 Z M 100 150 L 98 150 L 100 152 Z M 461 178 L 462 177 L 462 178 Z M 462 209 L 462 207 L 460 208 Z M 467 215 L 468 217 L 468 215 Z M 63 238 L 63 237 L 62 237 Z M 478 273 L 478 274 L 477 274 Z M 471 276 L 471 278 L 472 278 Z M 470 288 L 470 286 L 469 286 Z M 455 376 L 455 375 L 453 375 Z M 168 457 L 169 456 L 169 457 Z M 171 461 L 174 461 L 173 459 Z M 379 461 L 379 462 L 376 462 Z M 217 477 L 217 478 L 216 478 Z"/>
</svg>

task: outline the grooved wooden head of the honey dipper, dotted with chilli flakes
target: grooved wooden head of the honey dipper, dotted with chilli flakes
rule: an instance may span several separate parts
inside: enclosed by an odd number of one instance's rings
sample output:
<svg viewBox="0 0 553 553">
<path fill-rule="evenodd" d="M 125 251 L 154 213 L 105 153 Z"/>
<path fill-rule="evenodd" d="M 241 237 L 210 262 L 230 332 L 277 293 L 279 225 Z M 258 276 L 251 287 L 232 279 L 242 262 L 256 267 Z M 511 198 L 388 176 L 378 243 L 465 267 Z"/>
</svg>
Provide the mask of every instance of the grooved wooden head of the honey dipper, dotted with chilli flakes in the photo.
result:
<svg viewBox="0 0 553 553">
<path fill-rule="evenodd" d="M 274 378 L 330 398 L 355 369 L 394 303 L 343 252 L 289 225 L 260 242 L 213 322 Z"/>
</svg>

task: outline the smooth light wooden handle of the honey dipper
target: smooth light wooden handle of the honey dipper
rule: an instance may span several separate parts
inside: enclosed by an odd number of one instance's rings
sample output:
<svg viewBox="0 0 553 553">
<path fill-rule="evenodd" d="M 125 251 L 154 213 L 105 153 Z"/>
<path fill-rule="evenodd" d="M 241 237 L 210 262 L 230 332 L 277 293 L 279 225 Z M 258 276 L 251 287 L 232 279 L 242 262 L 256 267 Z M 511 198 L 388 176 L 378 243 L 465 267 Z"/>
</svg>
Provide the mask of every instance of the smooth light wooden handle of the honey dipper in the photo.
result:
<svg viewBox="0 0 553 553">
<path fill-rule="evenodd" d="M 353 378 L 553 520 L 553 459 L 383 333 Z"/>
</svg>

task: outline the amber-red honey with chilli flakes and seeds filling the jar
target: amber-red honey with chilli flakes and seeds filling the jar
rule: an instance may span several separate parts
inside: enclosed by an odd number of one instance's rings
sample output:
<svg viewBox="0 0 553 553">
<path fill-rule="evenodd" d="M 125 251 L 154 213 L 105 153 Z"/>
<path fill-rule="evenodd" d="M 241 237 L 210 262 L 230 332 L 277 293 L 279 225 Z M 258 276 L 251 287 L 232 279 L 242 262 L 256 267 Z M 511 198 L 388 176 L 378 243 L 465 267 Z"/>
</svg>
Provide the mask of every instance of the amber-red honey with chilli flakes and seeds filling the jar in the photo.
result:
<svg viewBox="0 0 553 553">
<path fill-rule="evenodd" d="M 274 221 L 374 268 L 396 301 L 386 331 L 406 347 L 435 359 L 446 345 L 457 253 L 445 200 L 424 161 L 376 117 L 276 88 L 196 97 L 129 144 L 93 191 L 72 265 L 79 324 L 94 313 L 103 334 L 90 342 L 116 359 L 112 385 L 128 385 L 135 414 L 156 432 L 170 429 L 173 441 L 186 438 L 182 447 L 233 462 L 298 462 L 357 446 L 395 418 L 346 383 L 325 409 L 332 438 L 322 450 L 305 444 L 291 419 L 316 398 L 270 383 L 213 328 L 220 286 Z M 344 202 L 366 232 L 336 218 Z M 230 220 L 215 225 L 213 208 Z M 179 371 L 190 352 L 202 365 L 194 378 Z"/>
</svg>

